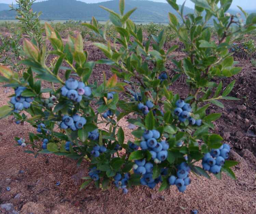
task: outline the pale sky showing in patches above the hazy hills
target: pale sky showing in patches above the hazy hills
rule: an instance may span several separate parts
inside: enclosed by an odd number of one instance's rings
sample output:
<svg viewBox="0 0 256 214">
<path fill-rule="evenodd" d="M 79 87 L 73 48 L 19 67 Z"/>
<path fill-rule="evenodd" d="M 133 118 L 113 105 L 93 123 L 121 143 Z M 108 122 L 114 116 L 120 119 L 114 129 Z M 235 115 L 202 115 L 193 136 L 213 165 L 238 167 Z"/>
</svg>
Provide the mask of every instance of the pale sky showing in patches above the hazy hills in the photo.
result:
<svg viewBox="0 0 256 214">
<path fill-rule="evenodd" d="M 42 1 L 42 0 L 37 0 Z M 97 3 L 97 2 L 103 2 L 103 1 L 109 1 L 109 0 L 80 0 L 86 3 Z M 166 2 L 165 0 L 152 0 L 156 2 Z M 177 0 L 178 4 L 183 4 L 185 0 Z M 15 0 L 0 0 L 0 3 L 15 3 Z M 190 0 L 186 1 L 185 4 L 187 7 L 193 8 L 193 3 Z M 237 9 L 237 5 L 241 6 L 245 10 L 255 10 L 256 9 L 256 0 L 233 0 L 233 3 L 231 5 L 231 9 Z"/>
</svg>

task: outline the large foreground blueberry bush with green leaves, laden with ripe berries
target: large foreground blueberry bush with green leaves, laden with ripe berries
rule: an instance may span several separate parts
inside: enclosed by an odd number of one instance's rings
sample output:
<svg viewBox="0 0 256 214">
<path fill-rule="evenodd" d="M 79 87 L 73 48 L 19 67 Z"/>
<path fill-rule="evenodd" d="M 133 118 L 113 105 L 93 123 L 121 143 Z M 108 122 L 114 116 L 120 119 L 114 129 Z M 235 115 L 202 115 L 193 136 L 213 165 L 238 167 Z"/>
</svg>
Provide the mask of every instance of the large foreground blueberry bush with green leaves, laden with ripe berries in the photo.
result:
<svg viewBox="0 0 256 214">
<path fill-rule="evenodd" d="M 91 182 L 103 189 L 114 184 L 126 194 L 133 185 L 154 188 L 161 183 L 159 191 L 176 185 L 184 192 L 191 183 L 191 173 L 208 179 L 212 173 L 220 179 L 224 172 L 235 179 L 230 167 L 237 162 L 228 160 L 230 147 L 213 133 L 213 121 L 221 114 L 206 114 L 206 110 L 210 105 L 224 108 L 221 100 L 237 100 L 228 96 L 235 81 L 223 88 L 221 79 L 241 71 L 233 67 L 229 50 L 236 38 L 255 29 L 256 14 L 247 15 L 241 9 L 247 17 L 243 23 L 226 13 L 232 0 L 192 1 L 195 13 L 184 16 L 184 4 L 179 8 L 175 0 L 167 0 L 182 20 L 180 23 L 169 14 L 170 27 L 187 53 L 180 61 L 171 55 L 178 46 L 163 49 L 165 30 L 143 43 L 142 29 L 129 19 L 135 9 L 124 13 L 124 0 L 119 3 L 120 14 L 102 7 L 118 32 L 114 43 L 106 37 L 108 22 L 103 29 L 94 17 L 91 24 L 83 23 L 100 38 L 94 45 L 105 54 L 104 59 L 88 61 L 80 34 L 69 36 L 64 45 L 59 33 L 47 23 L 50 53 L 46 45 L 39 49 L 35 39 L 25 39 L 21 63 L 28 69 L 23 77 L 0 66 L 0 81 L 15 89 L 8 105 L 0 108 L 0 117 L 14 115 L 17 124 L 27 121 L 37 130 L 37 134 L 29 133 L 30 142 L 16 138 L 17 145 L 30 148 L 25 152 L 36 157 L 62 155 L 77 160 L 78 165 L 89 161 L 89 174 L 83 178 L 81 189 Z M 211 18 L 217 41 L 207 27 Z M 54 66 L 46 65 L 48 54 L 57 57 Z M 176 66 L 172 78 L 165 68 L 167 61 Z M 103 73 L 103 83 L 91 84 L 95 64 L 109 65 L 113 76 L 107 79 Z M 60 69 L 65 70 L 65 79 L 60 78 Z M 184 100 L 171 90 L 181 75 L 186 75 L 189 86 Z M 51 82 L 52 87 L 43 88 L 42 81 Z M 132 87 L 126 87 L 129 85 Z M 120 93 L 126 98 L 119 99 Z M 128 122 L 137 127 L 132 132 L 133 142 L 125 138 L 119 125 L 128 114 L 134 114 L 135 119 Z M 103 124 L 106 128 L 100 129 Z"/>
</svg>

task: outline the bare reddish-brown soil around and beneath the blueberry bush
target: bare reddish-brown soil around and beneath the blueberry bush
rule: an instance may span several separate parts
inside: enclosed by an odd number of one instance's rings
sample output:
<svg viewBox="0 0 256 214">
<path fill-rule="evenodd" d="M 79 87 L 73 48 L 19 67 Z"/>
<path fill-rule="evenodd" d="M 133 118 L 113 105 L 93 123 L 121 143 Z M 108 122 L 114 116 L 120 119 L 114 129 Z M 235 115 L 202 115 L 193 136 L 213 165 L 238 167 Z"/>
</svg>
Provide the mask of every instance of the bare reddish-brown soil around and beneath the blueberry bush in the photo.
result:
<svg viewBox="0 0 256 214">
<path fill-rule="evenodd" d="M 98 60 L 104 55 L 86 42 L 89 60 Z M 183 52 L 175 52 L 176 59 L 184 57 Z M 33 155 L 24 153 L 21 147 L 15 147 L 14 136 L 27 141 L 29 132 L 36 132 L 27 123 L 16 125 L 12 117 L 4 118 L 0 123 L 0 204 L 12 203 L 21 214 L 80 214 L 80 213 L 190 213 L 197 209 L 199 213 L 255 213 L 256 210 L 256 68 L 248 61 L 239 61 L 242 72 L 235 76 L 233 94 L 241 101 L 224 101 L 225 109 L 211 106 L 207 113 L 221 112 L 215 122 L 214 132 L 224 138 L 231 146 L 231 159 L 239 161 L 233 167 L 237 180 L 223 175 L 222 180 L 212 177 L 191 175 L 192 183 L 182 194 L 176 187 L 159 193 L 145 186 L 133 187 L 127 195 L 114 190 L 96 189 L 90 184 L 79 191 L 82 177 L 87 175 L 89 162 L 80 167 L 76 162 L 54 155 Z M 173 64 L 167 64 L 169 76 L 173 75 Z M 111 76 L 109 66 L 97 65 L 91 82 L 103 80 L 103 71 L 107 78 Z M 223 79 L 227 86 L 232 79 Z M 219 82 L 219 80 L 216 80 Z M 44 83 L 45 86 L 48 83 Z M 1 85 L 3 86 L 3 85 Z M 185 77 L 170 88 L 184 97 L 188 88 Z M 8 102 L 13 90 L 0 88 L 0 106 Z M 120 121 L 125 131 L 126 141 L 132 139 L 129 125 L 125 119 Z M 24 173 L 19 173 L 24 170 Z M 60 186 L 56 186 L 56 182 Z M 10 186 L 11 190 L 6 191 Z M 14 198 L 17 194 L 19 198 Z M 4 212 L 0 208 L 0 213 Z"/>
</svg>

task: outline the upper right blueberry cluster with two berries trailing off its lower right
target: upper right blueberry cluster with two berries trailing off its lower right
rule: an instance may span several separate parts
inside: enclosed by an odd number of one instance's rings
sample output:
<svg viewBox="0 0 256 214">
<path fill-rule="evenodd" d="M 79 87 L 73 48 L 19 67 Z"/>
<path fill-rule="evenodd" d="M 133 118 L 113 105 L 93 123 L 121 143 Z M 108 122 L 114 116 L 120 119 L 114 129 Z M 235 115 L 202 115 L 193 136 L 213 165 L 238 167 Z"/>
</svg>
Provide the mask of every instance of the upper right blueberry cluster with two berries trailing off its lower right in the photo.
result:
<svg viewBox="0 0 256 214">
<path fill-rule="evenodd" d="M 192 112 L 190 104 L 185 103 L 184 100 L 177 100 L 175 105 L 177 108 L 174 110 L 174 114 L 179 117 L 180 122 L 185 122 L 188 119 L 191 125 L 201 126 L 202 120 L 196 120 L 190 116 Z"/>
</svg>

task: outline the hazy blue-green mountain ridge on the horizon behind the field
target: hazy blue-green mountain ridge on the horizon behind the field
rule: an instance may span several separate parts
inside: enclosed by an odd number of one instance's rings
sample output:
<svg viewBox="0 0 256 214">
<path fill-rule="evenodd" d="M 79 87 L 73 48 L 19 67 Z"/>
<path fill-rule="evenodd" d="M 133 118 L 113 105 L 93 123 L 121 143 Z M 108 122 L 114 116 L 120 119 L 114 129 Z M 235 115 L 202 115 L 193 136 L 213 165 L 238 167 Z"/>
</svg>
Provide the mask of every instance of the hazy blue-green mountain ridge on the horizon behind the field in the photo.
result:
<svg viewBox="0 0 256 214">
<path fill-rule="evenodd" d="M 87 4 L 76 0 L 48 0 L 34 3 L 33 11 L 42 11 L 41 19 L 56 19 L 56 20 L 91 20 L 95 16 L 99 21 L 109 19 L 109 13 L 100 8 L 105 6 L 109 9 L 118 12 L 119 0 L 112 0 L 100 3 Z M 125 11 L 129 11 L 137 7 L 137 10 L 131 16 L 133 21 L 138 22 L 168 22 L 168 12 L 177 14 L 175 10 L 167 3 L 159 3 L 153 1 L 126 0 Z M 185 7 L 184 14 L 193 13 L 193 9 Z M 15 11 L 1 11 L 0 19 L 15 18 Z"/>
</svg>

